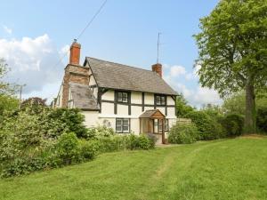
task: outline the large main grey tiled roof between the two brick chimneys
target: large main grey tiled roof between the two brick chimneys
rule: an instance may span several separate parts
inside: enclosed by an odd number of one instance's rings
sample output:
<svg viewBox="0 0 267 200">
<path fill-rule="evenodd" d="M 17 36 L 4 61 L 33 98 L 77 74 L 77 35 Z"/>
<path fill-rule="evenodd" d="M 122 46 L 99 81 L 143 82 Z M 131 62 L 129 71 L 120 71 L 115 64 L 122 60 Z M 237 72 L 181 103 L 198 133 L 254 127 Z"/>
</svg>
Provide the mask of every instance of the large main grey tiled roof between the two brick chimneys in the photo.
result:
<svg viewBox="0 0 267 200">
<path fill-rule="evenodd" d="M 153 71 L 90 57 L 86 57 L 86 60 L 100 87 L 177 95 L 177 92 Z"/>
</svg>

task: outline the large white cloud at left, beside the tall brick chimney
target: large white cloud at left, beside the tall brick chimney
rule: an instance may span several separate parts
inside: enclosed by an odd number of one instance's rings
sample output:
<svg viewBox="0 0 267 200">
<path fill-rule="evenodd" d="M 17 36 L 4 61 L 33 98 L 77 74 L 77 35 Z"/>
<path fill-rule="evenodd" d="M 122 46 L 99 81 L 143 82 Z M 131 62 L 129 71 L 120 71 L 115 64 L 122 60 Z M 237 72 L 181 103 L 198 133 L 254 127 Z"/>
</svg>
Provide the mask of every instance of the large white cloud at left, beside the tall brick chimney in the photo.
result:
<svg viewBox="0 0 267 200">
<path fill-rule="evenodd" d="M 56 50 L 46 34 L 36 38 L 23 37 L 21 40 L 0 39 L 0 55 L 11 68 L 7 80 L 17 84 L 26 84 L 24 94 L 50 95 L 48 91 L 54 90 L 51 85 L 61 81 L 63 75 L 63 64 L 56 65 L 60 54 L 61 52 Z M 42 93 L 44 90 L 46 92 Z"/>
</svg>

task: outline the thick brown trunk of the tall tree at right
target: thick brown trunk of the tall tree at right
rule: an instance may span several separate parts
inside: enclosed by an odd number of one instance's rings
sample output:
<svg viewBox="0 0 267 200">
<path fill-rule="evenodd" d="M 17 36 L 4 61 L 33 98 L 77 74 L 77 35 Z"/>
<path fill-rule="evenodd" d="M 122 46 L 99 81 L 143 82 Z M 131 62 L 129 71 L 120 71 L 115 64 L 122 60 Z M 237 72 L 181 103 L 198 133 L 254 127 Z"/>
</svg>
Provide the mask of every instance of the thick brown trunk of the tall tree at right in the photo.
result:
<svg viewBox="0 0 267 200">
<path fill-rule="evenodd" d="M 255 91 L 254 91 L 254 84 L 251 79 L 247 80 L 246 84 L 246 116 L 245 116 L 245 126 L 244 126 L 244 133 L 255 133 L 256 126 L 255 126 Z"/>
</svg>

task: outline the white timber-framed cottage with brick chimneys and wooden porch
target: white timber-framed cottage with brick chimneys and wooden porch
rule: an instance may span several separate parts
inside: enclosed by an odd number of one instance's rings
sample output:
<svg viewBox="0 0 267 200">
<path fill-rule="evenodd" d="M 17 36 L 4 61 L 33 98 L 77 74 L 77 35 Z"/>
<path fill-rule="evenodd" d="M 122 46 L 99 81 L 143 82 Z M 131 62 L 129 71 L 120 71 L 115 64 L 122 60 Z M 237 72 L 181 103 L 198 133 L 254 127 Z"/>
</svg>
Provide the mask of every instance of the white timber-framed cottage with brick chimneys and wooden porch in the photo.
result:
<svg viewBox="0 0 267 200">
<path fill-rule="evenodd" d="M 69 64 L 54 108 L 80 108 L 88 127 L 106 125 L 117 133 L 153 133 L 165 142 L 176 123 L 177 93 L 162 78 L 162 65 L 152 70 L 86 57 L 81 45 L 70 46 Z"/>
</svg>

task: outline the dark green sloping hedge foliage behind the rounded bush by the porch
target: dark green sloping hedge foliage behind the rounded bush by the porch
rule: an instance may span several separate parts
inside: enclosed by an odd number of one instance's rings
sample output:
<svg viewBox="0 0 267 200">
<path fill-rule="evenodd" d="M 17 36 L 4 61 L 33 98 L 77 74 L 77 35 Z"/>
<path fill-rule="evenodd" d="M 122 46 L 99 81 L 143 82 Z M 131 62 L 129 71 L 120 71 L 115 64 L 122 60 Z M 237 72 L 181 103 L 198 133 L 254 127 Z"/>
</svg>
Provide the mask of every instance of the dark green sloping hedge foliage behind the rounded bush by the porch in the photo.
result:
<svg viewBox="0 0 267 200">
<path fill-rule="evenodd" d="M 191 111 L 186 115 L 198 127 L 200 140 L 214 140 L 223 137 L 223 127 L 216 118 L 209 116 L 205 111 Z"/>
</svg>

